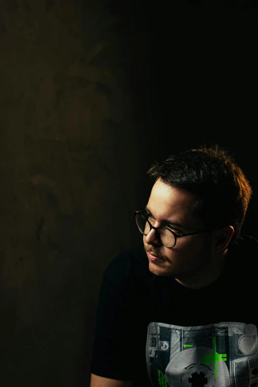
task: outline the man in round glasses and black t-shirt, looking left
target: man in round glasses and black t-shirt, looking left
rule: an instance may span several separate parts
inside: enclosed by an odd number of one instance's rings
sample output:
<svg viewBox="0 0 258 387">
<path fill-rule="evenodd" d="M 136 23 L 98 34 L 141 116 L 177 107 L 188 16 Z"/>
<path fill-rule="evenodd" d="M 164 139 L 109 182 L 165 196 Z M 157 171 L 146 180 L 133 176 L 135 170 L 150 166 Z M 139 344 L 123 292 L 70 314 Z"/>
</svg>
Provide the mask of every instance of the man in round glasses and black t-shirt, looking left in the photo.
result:
<svg viewBox="0 0 258 387">
<path fill-rule="evenodd" d="M 90 386 L 258 386 L 258 243 L 240 236 L 249 181 L 217 145 L 148 174 L 143 243 L 104 272 Z"/>
</svg>

